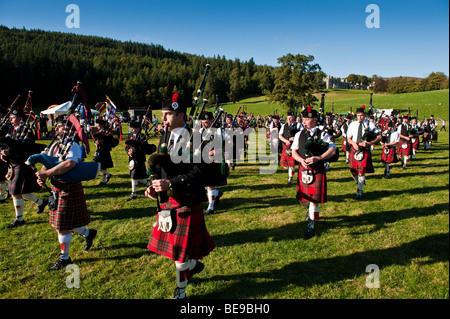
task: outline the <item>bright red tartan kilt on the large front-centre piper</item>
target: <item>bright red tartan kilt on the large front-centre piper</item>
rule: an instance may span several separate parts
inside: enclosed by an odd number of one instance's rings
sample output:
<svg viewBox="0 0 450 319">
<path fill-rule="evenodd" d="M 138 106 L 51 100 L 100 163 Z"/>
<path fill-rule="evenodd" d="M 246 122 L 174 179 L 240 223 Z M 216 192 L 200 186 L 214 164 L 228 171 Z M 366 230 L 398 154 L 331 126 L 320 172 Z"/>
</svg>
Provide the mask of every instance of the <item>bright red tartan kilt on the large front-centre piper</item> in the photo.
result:
<svg viewBox="0 0 450 319">
<path fill-rule="evenodd" d="M 202 259 L 216 247 L 206 229 L 201 203 L 180 207 L 170 197 L 167 203 L 161 203 L 161 208 L 177 210 L 175 230 L 163 232 L 158 230 L 158 225 L 153 227 L 148 249 L 175 261 L 185 262 L 191 258 Z"/>
</svg>

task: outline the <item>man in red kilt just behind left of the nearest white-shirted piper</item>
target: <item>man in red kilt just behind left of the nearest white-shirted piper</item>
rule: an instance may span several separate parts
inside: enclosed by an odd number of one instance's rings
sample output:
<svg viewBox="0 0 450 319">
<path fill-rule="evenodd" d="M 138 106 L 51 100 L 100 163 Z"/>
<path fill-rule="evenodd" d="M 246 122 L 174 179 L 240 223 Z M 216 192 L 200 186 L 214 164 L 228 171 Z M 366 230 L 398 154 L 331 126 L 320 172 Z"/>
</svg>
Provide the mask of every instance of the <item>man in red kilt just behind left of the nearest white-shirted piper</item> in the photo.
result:
<svg viewBox="0 0 450 319">
<path fill-rule="evenodd" d="M 295 134 L 297 134 L 297 123 L 294 122 L 295 115 L 294 112 L 287 113 L 286 123 L 281 127 L 278 138 L 283 142 L 283 151 L 281 153 L 280 165 L 288 168 L 288 185 L 291 185 L 292 178 L 295 173 L 295 165 L 297 162 L 292 157 L 291 144 L 294 140 Z"/>
</svg>

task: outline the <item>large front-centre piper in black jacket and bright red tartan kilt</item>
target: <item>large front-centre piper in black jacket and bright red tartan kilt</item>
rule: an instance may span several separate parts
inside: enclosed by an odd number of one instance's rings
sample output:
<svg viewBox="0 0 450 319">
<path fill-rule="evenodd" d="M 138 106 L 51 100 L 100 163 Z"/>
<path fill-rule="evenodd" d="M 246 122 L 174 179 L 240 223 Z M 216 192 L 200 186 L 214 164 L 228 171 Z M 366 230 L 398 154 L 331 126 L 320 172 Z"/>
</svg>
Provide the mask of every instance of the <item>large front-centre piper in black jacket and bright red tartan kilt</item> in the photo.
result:
<svg viewBox="0 0 450 319">
<path fill-rule="evenodd" d="M 186 107 L 178 102 L 178 94 L 164 101 L 162 119 L 167 131 L 165 138 L 160 140 L 159 149 L 163 144 L 167 145 L 170 157 L 161 163 L 161 175 L 153 179 L 152 185 L 145 191 L 145 195 L 154 200 L 159 195 L 162 209 L 158 212 L 147 247 L 175 261 L 177 287 L 174 298 L 182 299 L 186 297 L 185 289 L 190 278 L 204 268 L 198 260 L 215 248 L 202 212 L 202 202 L 207 200 L 205 186 L 212 184 L 214 176 L 211 175 L 215 170 L 203 162 L 179 162 L 180 158 L 177 159 L 184 149 L 187 149 L 187 156 L 193 152 L 187 145 L 192 133 L 186 125 Z M 183 148 L 183 142 L 187 147 Z M 150 156 L 148 162 L 157 155 L 160 154 Z M 169 190 L 172 193 L 170 196 Z M 164 223 L 164 220 L 171 221 L 172 218 L 172 224 Z"/>
</svg>

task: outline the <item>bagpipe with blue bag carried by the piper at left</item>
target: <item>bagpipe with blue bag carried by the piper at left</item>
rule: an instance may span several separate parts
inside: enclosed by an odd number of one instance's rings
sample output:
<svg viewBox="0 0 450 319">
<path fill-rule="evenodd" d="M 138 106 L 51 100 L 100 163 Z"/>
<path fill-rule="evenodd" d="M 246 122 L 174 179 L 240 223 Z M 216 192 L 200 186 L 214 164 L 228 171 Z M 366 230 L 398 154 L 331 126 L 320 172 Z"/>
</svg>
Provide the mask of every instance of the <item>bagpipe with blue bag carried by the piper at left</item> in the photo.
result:
<svg viewBox="0 0 450 319">
<path fill-rule="evenodd" d="M 71 123 L 71 127 L 68 129 L 68 124 Z M 80 136 L 81 135 L 81 136 Z M 66 160 L 67 155 L 70 152 L 70 148 L 73 143 L 77 140 L 81 140 L 86 143 L 87 138 L 85 137 L 84 131 L 76 119 L 76 117 L 71 114 L 66 121 L 66 126 L 64 134 L 61 137 L 61 143 L 54 144 L 58 137 L 52 140 L 52 142 L 45 148 L 45 150 L 40 154 L 33 154 L 28 157 L 25 164 L 34 167 L 36 163 L 41 163 L 46 169 L 50 169 L 62 163 Z M 55 146 L 59 148 L 56 149 Z M 78 183 L 82 181 L 88 181 L 95 179 L 100 171 L 101 164 L 98 162 L 78 162 L 71 170 L 64 174 L 55 175 L 53 178 L 57 181 L 62 181 L 66 183 Z"/>
</svg>

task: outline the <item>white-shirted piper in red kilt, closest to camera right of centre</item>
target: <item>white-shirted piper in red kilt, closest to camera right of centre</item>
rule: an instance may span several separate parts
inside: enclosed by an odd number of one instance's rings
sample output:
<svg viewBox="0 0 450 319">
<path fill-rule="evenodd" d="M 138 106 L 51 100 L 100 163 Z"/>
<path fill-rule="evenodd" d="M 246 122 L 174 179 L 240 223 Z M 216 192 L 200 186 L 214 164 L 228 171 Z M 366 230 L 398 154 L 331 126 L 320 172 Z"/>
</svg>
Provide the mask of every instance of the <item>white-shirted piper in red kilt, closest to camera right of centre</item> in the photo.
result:
<svg viewBox="0 0 450 319">
<path fill-rule="evenodd" d="M 327 201 L 325 162 L 336 152 L 336 145 L 331 142 L 330 136 L 316 127 L 318 114 L 311 106 L 302 111 L 304 128 L 295 134 L 291 146 L 292 156 L 300 163 L 296 198 L 309 202 L 306 238 L 314 236 L 314 222 L 319 218 L 319 204 Z M 326 151 L 321 155 L 306 153 L 305 146 L 309 138 L 328 143 Z"/>
</svg>

